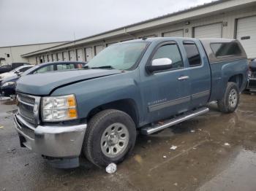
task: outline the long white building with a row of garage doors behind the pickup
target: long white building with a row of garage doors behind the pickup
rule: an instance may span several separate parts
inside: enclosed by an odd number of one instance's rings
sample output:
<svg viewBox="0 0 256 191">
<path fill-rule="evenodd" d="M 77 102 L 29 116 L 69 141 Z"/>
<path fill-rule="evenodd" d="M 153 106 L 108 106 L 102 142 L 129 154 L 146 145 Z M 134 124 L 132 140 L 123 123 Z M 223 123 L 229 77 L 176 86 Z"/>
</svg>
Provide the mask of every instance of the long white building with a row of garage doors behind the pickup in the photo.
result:
<svg viewBox="0 0 256 191">
<path fill-rule="evenodd" d="M 239 39 L 248 58 L 256 58 L 256 1 L 213 1 L 55 47 L 26 52 L 22 57 L 34 63 L 90 61 L 110 44 L 143 36 Z"/>
</svg>

